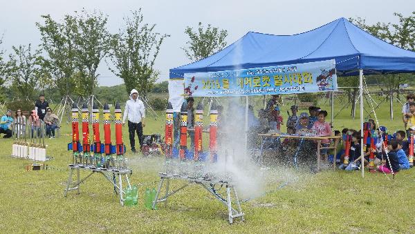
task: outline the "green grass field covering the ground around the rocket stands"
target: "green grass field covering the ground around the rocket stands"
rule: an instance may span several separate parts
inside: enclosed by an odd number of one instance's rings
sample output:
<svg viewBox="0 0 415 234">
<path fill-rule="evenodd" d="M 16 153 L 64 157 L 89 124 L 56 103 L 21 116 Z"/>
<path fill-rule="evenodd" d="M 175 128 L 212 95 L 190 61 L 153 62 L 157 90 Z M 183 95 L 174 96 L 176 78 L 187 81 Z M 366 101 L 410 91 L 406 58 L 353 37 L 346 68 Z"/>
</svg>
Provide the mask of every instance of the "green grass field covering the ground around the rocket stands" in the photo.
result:
<svg viewBox="0 0 415 234">
<path fill-rule="evenodd" d="M 285 109 L 282 113 L 286 119 Z M 324 101 L 322 108 L 329 108 Z M 336 103 L 338 112 L 342 100 Z M 389 106 L 377 111 L 381 125 L 392 131 L 402 128 L 401 106 L 395 104 L 395 121 Z M 335 129 L 359 128 L 350 109 L 335 119 Z M 148 117 L 145 133 L 163 133 L 164 115 Z M 92 128 L 91 128 L 92 129 Z M 413 233 L 415 228 L 415 169 L 398 173 L 395 181 L 381 173 L 325 170 L 311 174 L 275 166 L 268 173 L 266 195 L 242 204 L 246 221 L 228 224 L 225 206 L 199 186 L 191 186 L 169 199 L 157 211 L 144 207 L 145 188 L 158 183 L 162 157 L 127 153 L 133 169 L 132 184 L 139 186 L 138 206 L 122 207 L 111 185 L 93 175 L 81 193 L 64 198 L 71 153 L 71 127 L 63 124 L 62 136 L 46 139 L 49 169 L 26 171 L 29 160 L 10 157 L 12 139 L 0 139 L 0 232 L 1 233 Z M 103 133 L 103 131 L 101 132 Z M 103 138 L 103 137 L 102 137 Z M 129 149 L 127 129 L 124 142 Z M 82 174 L 86 175 L 86 173 Z M 279 184 L 288 182 L 281 189 Z M 178 188 L 183 182 L 173 182 Z"/>
</svg>

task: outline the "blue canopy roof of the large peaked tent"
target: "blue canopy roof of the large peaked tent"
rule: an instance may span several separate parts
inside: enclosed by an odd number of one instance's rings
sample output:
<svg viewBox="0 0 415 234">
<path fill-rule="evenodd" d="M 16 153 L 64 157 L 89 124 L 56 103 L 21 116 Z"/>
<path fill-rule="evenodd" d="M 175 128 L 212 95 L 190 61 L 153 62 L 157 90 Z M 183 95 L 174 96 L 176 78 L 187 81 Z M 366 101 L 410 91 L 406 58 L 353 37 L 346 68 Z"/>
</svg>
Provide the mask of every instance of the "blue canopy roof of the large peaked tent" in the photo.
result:
<svg viewBox="0 0 415 234">
<path fill-rule="evenodd" d="M 335 59 L 338 75 L 415 71 L 415 52 L 382 41 L 340 18 L 297 35 L 248 32 L 216 54 L 170 69 L 170 78 L 185 73 L 261 68 Z"/>
</svg>

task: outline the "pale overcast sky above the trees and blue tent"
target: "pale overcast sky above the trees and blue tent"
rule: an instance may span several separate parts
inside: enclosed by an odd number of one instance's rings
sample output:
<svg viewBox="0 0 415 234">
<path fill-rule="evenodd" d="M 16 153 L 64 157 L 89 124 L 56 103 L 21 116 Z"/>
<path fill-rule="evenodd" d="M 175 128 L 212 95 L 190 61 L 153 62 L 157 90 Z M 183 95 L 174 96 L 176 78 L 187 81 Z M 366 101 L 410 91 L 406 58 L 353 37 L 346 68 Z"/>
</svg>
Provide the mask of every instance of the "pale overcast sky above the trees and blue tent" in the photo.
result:
<svg viewBox="0 0 415 234">
<path fill-rule="evenodd" d="M 181 49 L 188 41 L 184 31 L 187 26 L 196 28 L 199 22 L 228 30 L 228 45 L 246 32 L 262 32 L 273 35 L 293 35 L 317 28 L 340 17 L 362 17 L 367 23 L 378 21 L 397 23 L 394 12 L 405 16 L 415 10 L 415 1 L 394 0 L 0 0 L 0 33 L 3 44 L 0 49 L 6 55 L 12 46 L 28 45 L 34 48 L 40 43 L 36 22 L 42 22 L 42 14 L 50 14 L 62 21 L 65 14 L 73 14 L 85 8 L 100 10 L 108 15 L 108 28 L 118 32 L 123 17 L 131 16 L 131 10 L 142 9 L 145 23 L 156 23 L 156 32 L 170 35 L 163 42 L 154 68 L 160 70 L 158 81 L 169 78 L 169 68 L 191 61 Z M 122 79 L 108 70 L 102 61 L 98 68 L 98 84 L 113 86 Z"/>
</svg>

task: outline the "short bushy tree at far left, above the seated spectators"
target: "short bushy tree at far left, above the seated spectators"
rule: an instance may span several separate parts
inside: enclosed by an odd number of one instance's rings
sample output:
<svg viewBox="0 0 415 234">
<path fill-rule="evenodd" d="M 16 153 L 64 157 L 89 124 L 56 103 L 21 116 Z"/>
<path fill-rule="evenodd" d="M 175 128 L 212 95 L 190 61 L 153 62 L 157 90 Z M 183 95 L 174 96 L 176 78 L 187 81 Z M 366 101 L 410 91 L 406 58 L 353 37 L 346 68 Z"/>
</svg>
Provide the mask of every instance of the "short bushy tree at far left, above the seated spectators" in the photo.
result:
<svg viewBox="0 0 415 234">
<path fill-rule="evenodd" d="M 19 97 L 31 99 L 35 96 L 39 77 L 44 74 L 41 67 L 41 51 L 33 52 L 30 43 L 28 46 L 12 46 L 12 50 L 14 55 L 10 54 L 8 61 L 12 78 L 11 88 Z"/>
</svg>

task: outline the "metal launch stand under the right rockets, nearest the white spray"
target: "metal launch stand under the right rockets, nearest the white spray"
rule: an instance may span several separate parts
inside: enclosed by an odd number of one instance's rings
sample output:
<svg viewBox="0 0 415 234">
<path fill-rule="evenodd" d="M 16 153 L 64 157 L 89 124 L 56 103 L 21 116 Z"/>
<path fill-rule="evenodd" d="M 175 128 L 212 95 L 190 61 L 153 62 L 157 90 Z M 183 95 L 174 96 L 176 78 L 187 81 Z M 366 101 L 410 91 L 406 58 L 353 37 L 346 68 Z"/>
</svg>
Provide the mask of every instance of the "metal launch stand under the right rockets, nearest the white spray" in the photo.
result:
<svg viewBox="0 0 415 234">
<path fill-rule="evenodd" d="M 181 191 L 183 188 L 189 186 L 190 184 L 199 184 L 203 188 L 205 188 L 209 193 L 211 193 L 216 199 L 219 200 L 219 202 L 222 202 L 227 208 L 228 208 L 228 221 L 230 224 L 232 224 L 234 218 L 241 217 L 241 220 L 244 221 L 243 212 L 241 208 L 241 204 L 239 202 L 237 191 L 235 190 L 234 186 L 230 182 L 214 179 L 214 178 L 208 178 L 208 177 L 190 177 L 187 175 L 173 175 L 173 174 L 167 174 L 167 173 L 159 173 L 160 174 L 160 182 L 158 184 L 158 189 L 156 193 L 156 197 L 153 201 L 152 208 L 156 208 L 156 204 L 158 202 L 164 202 L 165 206 L 167 206 L 167 197 L 174 195 L 178 191 Z M 170 179 L 181 179 L 187 181 L 187 184 L 181 186 L 180 188 L 172 191 L 169 193 L 169 184 Z M 163 184 L 165 183 L 165 196 L 162 198 L 158 198 L 161 193 L 161 188 L 163 187 Z M 219 193 L 217 193 L 215 186 L 225 186 L 226 188 L 226 197 L 221 197 Z M 234 197 L 234 205 L 237 206 L 237 208 L 232 207 L 232 193 Z"/>
</svg>

